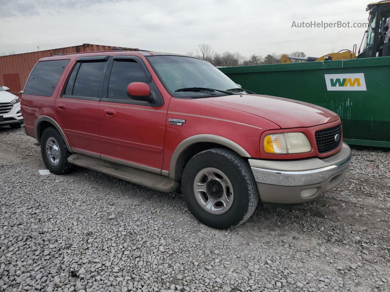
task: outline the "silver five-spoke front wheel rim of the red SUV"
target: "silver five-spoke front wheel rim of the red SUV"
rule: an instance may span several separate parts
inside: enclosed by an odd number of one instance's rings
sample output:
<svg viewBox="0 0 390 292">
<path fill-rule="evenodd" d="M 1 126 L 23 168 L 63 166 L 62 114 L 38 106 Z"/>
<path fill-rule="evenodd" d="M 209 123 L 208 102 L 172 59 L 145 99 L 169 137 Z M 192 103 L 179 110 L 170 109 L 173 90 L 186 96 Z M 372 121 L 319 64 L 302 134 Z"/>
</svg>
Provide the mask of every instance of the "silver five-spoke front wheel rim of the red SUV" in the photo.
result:
<svg viewBox="0 0 390 292">
<path fill-rule="evenodd" d="M 214 167 L 206 167 L 196 174 L 193 192 L 199 206 L 213 215 L 227 212 L 234 200 L 230 179 L 223 171 Z"/>
</svg>

